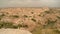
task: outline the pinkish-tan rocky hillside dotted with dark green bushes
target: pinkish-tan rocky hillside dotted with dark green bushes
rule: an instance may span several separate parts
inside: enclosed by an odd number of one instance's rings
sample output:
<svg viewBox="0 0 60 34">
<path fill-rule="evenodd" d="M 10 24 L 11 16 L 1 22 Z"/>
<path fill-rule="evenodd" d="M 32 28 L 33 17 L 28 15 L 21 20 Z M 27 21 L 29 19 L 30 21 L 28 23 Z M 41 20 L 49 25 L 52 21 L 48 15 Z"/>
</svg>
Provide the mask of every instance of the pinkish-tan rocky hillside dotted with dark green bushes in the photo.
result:
<svg viewBox="0 0 60 34">
<path fill-rule="evenodd" d="M 60 34 L 60 8 L 1 8 L 2 28 L 23 28 L 33 34 Z"/>
</svg>

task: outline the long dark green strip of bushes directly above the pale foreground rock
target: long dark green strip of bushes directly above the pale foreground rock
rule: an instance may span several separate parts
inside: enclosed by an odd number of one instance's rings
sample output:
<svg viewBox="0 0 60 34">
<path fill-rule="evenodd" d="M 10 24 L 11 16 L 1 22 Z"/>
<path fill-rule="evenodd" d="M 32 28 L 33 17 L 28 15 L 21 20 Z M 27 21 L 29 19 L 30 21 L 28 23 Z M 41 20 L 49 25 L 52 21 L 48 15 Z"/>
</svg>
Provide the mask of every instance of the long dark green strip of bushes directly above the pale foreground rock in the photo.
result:
<svg viewBox="0 0 60 34">
<path fill-rule="evenodd" d="M 28 27 L 27 25 L 24 24 L 17 24 L 17 25 L 13 25 L 14 23 L 11 22 L 0 22 L 0 29 L 1 28 L 13 28 L 13 29 L 18 29 L 20 27 Z"/>
</svg>

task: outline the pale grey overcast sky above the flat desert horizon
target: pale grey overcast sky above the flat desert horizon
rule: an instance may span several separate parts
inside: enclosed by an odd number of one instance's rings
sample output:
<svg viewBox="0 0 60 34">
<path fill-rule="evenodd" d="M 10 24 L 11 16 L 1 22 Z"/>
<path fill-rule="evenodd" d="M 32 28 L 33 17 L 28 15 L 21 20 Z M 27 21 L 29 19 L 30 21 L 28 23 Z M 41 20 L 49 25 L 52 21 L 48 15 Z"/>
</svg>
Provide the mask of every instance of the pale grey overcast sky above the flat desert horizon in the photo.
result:
<svg viewBox="0 0 60 34">
<path fill-rule="evenodd" d="M 60 7 L 60 0 L 0 0 L 0 7 Z"/>
</svg>

